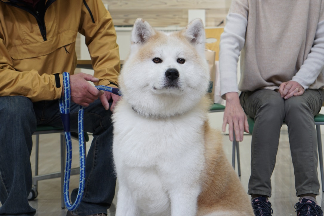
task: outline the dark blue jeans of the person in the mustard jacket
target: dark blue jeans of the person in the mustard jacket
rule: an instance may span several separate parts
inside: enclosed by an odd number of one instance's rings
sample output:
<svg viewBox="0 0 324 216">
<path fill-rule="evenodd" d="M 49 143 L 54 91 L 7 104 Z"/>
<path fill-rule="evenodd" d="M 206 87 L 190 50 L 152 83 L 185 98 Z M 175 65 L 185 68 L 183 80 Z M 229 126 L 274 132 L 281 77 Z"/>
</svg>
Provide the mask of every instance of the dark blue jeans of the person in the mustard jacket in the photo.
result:
<svg viewBox="0 0 324 216">
<path fill-rule="evenodd" d="M 77 131 L 79 105 L 70 108 L 71 131 Z M 37 125 L 62 127 L 59 102 L 32 103 L 23 96 L 0 97 L 0 215 L 34 215 L 27 197 L 32 187 L 31 135 Z M 84 131 L 93 133 L 86 159 L 86 184 L 79 215 L 107 213 L 115 193 L 116 176 L 112 161 L 111 111 L 100 100 L 84 112 Z M 75 200 L 77 188 L 71 199 Z"/>
</svg>

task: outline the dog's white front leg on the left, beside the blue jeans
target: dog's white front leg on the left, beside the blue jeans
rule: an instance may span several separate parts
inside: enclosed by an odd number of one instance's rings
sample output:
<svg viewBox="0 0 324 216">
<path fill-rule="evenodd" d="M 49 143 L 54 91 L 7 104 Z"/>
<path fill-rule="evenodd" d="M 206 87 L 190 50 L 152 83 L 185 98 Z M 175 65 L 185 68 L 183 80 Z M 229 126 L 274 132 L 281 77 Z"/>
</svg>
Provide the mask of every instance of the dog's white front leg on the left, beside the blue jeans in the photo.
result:
<svg viewBox="0 0 324 216">
<path fill-rule="evenodd" d="M 121 182 L 117 193 L 116 216 L 139 216 L 131 191 Z"/>
</svg>

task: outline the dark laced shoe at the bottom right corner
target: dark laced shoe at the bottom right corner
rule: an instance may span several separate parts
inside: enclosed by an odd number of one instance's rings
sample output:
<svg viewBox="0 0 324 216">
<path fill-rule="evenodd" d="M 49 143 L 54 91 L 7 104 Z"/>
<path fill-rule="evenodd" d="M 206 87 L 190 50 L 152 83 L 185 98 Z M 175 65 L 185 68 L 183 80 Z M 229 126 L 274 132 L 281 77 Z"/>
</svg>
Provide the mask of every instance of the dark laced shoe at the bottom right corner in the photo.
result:
<svg viewBox="0 0 324 216">
<path fill-rule="evenodd" d="M 297 216 L 322 216 L 323 211 L 321 207 L 316 205 L 316 203 L 310 199 L 303 198 L 299 202 L 296 203 L 295 209 L 297 212 Z"/>
</svg>

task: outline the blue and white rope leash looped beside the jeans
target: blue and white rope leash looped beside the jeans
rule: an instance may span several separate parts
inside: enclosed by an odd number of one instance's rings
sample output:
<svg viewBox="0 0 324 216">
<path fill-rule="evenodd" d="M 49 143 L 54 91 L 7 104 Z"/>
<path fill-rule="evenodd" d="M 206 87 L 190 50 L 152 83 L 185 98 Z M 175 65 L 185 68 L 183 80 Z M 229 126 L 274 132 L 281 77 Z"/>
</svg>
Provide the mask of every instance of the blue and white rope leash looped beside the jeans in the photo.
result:
<svg viewBox="0 0 324 216">
<path fill-rule="evenodd" d="M 83 134 L 83 115 L 84 107 L 80 106 L 78 114 L 78 137 L 79 137 L 79 154 L 80 154 L 80 183 L 78 195 L 76 196 L 75 202 L 70 203 L 69 198 L 69 184 L 71 176 L 71 162 L 72 162 L 72 140 L 70 132 L 70 105 L 71 105 L 71 89 L 70 89 L 70 76 L 69 73 L 63 73 L 63 86 L 64 86 L 64 97 L 60 98 L 60 112 L 63 122 L 65 141 L 66 141 L 66 165 L 64 174 L 64 202 L 68 210 L 75 210 L 81 202 L 84 192 L 85 185 L 85 174 L 86 174 L 86 156 L 84 146 L 84 134 Z M 98 90 L 109 91 L 113 94 L 121 96 L 118 88 L 112 88 L 105 85 L 96 86 Z"/>
</svg>

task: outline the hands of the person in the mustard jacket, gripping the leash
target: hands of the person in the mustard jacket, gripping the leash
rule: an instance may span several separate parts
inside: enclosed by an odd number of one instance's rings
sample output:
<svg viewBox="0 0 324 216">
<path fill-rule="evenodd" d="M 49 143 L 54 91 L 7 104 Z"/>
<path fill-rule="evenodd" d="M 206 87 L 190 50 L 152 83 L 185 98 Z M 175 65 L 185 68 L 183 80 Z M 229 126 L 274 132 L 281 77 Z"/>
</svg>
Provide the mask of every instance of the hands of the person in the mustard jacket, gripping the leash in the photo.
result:
<svg viewBox="0 0 324 216">
<path fill-rule="evenodd" d="M 104 106 L 106 110 L 110 108 L 110 110 L 113 111 L 120 96 L 107 91 L 99 91 L 88 81 L 95 83 L 98 82 L 99 79 L 84 73 L 70 75 L 71 100 L 76 104 L 87 107 L 99 97 L 102 106 Z M 64 90 L 62 89 L 62 95 L 63 94 Z M 109 105 L 110 99 L 113 100 L 111 107 Z"/>
</svg>

